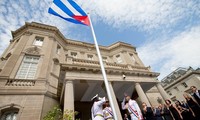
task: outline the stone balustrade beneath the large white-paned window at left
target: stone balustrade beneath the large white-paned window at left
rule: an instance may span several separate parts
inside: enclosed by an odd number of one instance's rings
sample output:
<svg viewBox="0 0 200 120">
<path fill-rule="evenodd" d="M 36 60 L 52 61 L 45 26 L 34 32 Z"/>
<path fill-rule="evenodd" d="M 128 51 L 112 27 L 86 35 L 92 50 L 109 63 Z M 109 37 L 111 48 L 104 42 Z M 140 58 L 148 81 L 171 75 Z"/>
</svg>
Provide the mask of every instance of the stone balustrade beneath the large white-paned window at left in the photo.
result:
<svg viewBox="0 0 200 120">
<path fill-rule="evenodd" d="M 35 86 L 35 80 L 8 79 L 5 86 Z"/>
</svg>

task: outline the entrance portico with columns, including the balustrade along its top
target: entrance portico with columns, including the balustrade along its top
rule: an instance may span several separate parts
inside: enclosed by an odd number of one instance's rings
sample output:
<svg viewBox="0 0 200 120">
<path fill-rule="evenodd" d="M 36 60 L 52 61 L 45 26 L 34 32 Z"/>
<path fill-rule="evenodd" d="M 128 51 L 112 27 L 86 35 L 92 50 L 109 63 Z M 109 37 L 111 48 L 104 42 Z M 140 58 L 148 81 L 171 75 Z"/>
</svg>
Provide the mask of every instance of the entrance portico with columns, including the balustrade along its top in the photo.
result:
<svg viewBox="0 0 200 120">
<path fill-rule="evenodd" d="M 115 98 L 113 103 L 115 106 L 119 104 L 116 110 L 118 118 L 122 118 L 120 101 L 123 100 L 124 93 L 130 95 L 132 99 L 138 98 L 139 105 L 142 102 L 145 102 L 148 106 L 151 105 L 146 92 L 159 83 L 157 81 L 159 73 L 151 72 L 149 67 L 128 64 L 104 62 L 104 66 L 112 98 Z M 96 94 L 99 94 L 100 97 L 105 96 L 108 98 L 99 62 L 67 57 L 66 63 L 61 64 L 61 71 L 63 72 L 60 75 L 62 76 L 60 82 L 64 83 L 64 85 L 66 84 L 65 90 L 62 91 L 69 93 L 62 92 L 60 97 L 64 110 L 78 111 L 81 119 L 90 119 L 91 98 Z M 69 88 L 66 88 L 67 86 Z M 157 87 L 163 93 L 160 86 L 157 85 Z M 69 92 L 70 89 L 71 92 Z M 69 96 L 74 98 L 69 98 Z"/>
</svg>

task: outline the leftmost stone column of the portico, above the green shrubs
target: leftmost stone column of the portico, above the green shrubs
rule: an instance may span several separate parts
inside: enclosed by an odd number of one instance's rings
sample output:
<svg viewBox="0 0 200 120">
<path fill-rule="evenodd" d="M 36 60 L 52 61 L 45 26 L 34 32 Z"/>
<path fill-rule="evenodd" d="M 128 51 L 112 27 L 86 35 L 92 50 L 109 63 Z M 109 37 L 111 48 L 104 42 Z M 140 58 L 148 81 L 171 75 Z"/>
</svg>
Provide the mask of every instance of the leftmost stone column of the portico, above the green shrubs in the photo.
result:
<svg viewBox="0 0 200 120">
<path fill-rule="evenodd" d="M 71 80 L 66 81 L 65 84 L 63 111 L 65 110 L 72 110 L 74 112 L 74 84 Z"/>
</svg>

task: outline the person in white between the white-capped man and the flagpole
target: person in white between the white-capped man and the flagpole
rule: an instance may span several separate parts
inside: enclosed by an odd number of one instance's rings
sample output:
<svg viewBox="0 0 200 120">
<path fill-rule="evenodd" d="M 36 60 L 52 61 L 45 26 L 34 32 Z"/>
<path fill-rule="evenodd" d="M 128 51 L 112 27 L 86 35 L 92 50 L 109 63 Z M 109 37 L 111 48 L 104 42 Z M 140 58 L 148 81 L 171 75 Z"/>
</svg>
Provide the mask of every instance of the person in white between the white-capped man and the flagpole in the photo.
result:
<svg viewBox="0 0 200 120">
<path fill-rule="evenodd" d="M 104 104 L 105 108 L 103 109 L 103 116 L 105 120 L 114 120 L 113 119 L 113 112 L 112 109 L 110 107 L 109 101 L 106 101 L 106 103 Z"/>
</svg>

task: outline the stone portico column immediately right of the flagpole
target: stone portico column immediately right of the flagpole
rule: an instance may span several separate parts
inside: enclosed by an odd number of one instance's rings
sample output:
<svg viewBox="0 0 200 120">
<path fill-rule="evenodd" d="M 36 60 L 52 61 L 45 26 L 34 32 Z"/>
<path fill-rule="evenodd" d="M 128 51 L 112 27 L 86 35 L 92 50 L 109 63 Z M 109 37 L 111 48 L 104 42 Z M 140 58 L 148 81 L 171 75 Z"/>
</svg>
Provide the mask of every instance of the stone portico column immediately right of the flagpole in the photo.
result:
<svg viewBox="0 0 200 120">
<path fill-rule="evenodd" d="M 121 112 L 120 112 L 119 105 L 118 105 L 118 102 L 117 102 L 117 99 L 116 99 L 116 96 L 115 96 L 115 93 L 114 93 L 114 90 L 113 90 L 113 87 L 112 87 L 112 83 L 111 82 L 108 82 L 108 83 L 109 83 L 110 92 L 111 92 L 111 95 L 112 95 L 112 98 L 113 98 L 115 111 L 117 112 L 116 113 L 117 114 L 117 118 L 118 118 L 118 120 L 122 120 Z"/>
</svg>

